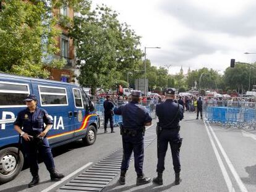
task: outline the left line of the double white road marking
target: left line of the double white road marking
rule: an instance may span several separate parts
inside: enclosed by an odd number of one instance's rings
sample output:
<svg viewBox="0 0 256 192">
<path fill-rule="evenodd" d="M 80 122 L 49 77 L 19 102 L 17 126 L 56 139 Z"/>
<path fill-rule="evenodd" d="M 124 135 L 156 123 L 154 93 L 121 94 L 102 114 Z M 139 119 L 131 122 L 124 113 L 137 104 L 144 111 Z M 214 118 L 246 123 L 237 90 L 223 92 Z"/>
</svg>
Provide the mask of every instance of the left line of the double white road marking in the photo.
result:
<svg viewBox="0 0 256 192">
<path fill-rule="evenodd" d="M 217 150 L 217 148 L 216 148 L 216 145 L 215 145 L 215 143 L 213 142 L 213 138 L 212 138 L 212 136 L 211 136 L 211 134 L 210 134 L 210 131 L 208 130 L 205 121 L 203 121 L 203 123 L 205 124 L 205 128 L 206 128 L 206 130 L 207 130 L 207 134 L 208 134 L 208 136 L 209 136 L 209 138 L 210 138 L 210 141 L 211 141 L 211 146 L 213 147 L 213 151 L 215 152 L 215 156 L 216 156 L 217 161 L 218 161 L 218 163 L 219 163 L 219 165 L 220 165 L 220 169 L 221 169 L 221 172 L 222 172 L 222 174 L 223 174 L 223 177 L 224 177 L 224 180 L 225 180 L 225 182 L 226 182 L 226 185 L 227 185 L 227 187 L 228 187 L 228 191 L 229 191 L 229 192 L 234 192 L 235 190 L 234 190 L 233 184 L 232 184 L 232 182 L 231 182 L 231 179 L 229 178 L 228 172 L 227 172 L 227 170 L 226 170 L 226 168 L 225 168 L 225 166 L 224 166 L 224 164 L 223 164 L 223 161 L 221 160 L 221 157 L 220 157 L 220 154 L 219 154 L 219 152 L 218 152 L 218 150 Z"/>
</svg>

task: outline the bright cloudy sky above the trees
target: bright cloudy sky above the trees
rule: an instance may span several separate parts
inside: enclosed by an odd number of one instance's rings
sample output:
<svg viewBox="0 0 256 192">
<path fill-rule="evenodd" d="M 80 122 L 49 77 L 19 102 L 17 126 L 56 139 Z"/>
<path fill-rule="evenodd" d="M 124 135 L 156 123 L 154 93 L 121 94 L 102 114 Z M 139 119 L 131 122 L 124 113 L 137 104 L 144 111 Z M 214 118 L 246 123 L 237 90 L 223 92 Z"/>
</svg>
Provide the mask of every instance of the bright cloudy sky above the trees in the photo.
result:
<svg viewBox="0 0 256 192">
<path fill-rule="evenodd" d="M 147 59 L 175 74 L 182 68 L 223 73 L 230 60 L 253 63 L 256 54 L 254 0 L 92 0 L 119 12 L 147 49 Z"/>
</svg>

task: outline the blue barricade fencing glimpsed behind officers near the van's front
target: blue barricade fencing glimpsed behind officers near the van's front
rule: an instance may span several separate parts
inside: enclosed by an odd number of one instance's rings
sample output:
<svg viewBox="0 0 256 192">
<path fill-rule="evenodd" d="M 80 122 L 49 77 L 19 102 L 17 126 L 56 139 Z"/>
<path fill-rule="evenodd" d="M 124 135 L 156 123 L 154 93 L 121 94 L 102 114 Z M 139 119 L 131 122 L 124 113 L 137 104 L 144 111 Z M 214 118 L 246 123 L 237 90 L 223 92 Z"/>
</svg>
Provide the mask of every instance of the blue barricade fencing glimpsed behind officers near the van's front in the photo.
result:
<svg viewBox="0 0 256 192">
<path fill-rule="evenodd" d="M 114 105 L 116 107 L 118 106 L 121 106 L 122 104 L 126 104 L 128 103 L 129 101 L 113 101 Z M 157 102 L 155 103 L 155 100 L 147 100 L 147 101 L 142 101 L 140 102 L 140 104 L 144 107 L 146 107 L 147 111 L 150 112 L 151 114 L 151 117 L 153 119 L 156 118 L 156 115 L 155 115 L 155 109 L 156 109 L 156 104 Z M 95 102 L 95 109 L 96 109 L 96 114 L 100 116 L 100 121 L 101 121 L 101 125 L 103 124 L 102 122 L 104 122 L 104 107 L 103 107 L 103 101 L 96 101 Z M 122 116 L 121 115 L 114 115 L 113 116 L 113 119 L 114 119 L 114 125 L 118 125 L 119 123 L 122 122 Z"/>
</svg>

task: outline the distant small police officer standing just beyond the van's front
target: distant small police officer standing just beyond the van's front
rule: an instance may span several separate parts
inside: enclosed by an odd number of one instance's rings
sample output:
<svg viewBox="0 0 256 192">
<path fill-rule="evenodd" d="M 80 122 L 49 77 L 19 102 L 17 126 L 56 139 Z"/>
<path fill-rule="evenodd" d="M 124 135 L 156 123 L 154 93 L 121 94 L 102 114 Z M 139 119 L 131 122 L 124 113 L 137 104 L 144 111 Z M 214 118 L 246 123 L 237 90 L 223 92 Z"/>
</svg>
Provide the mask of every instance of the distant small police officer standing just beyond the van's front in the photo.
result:
<svg viewBox="0 0 256 192">
<path fill-rule="evenodd" d="M 114 119 L 113 119 L 113 108 L 114 104 L 112 101 L 110 101 L 110 96 L 106 96 L 106 101 L 103 102 L 103 107 L 104 107 L 104 129 L 105 133 L 108 133 L 106 130 L 108 126 L 108 120 L 110 122 L 110 127 L 111 127 L 111 133 L 114 133 Z"/>
</svg>

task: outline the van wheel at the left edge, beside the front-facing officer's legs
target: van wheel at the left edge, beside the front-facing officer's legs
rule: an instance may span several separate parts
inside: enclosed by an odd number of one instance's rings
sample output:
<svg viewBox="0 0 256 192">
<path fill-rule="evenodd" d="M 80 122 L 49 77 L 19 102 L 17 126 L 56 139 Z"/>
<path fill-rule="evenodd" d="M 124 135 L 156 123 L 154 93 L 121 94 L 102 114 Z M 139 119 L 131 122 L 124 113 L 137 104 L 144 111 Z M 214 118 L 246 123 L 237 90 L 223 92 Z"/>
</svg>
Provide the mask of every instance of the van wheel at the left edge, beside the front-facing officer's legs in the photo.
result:
<svg viewBox="0 0 256 192">
<path fill-rule="evenodd" d="M 24 163 L 21 151 L 19 156 L 19 163 L 17 163 L 17 148 L 10 147 L 0 150 L 0 183 L 9 182 L 19 175 Z"/>
</svg>

